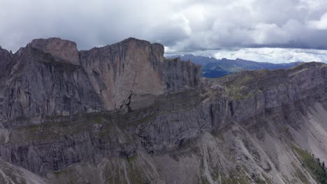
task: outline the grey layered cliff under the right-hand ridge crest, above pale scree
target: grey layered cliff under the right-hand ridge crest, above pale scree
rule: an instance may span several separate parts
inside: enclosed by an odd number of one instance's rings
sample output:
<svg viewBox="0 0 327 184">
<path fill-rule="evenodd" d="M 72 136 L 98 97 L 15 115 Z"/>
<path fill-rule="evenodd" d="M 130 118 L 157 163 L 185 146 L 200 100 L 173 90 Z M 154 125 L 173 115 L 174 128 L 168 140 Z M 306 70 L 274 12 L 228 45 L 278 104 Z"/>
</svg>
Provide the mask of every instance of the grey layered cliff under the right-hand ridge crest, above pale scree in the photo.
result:
<svg viewBox="0 0 327 184">
<path fill-rule="evenodd" d="M 287 121 L 295 121 L 291 118 L 296 116 L 289 112 L 301 109 L 305 113 L 305 106 L 327 101 L 326 71 L 325 64 L 312 62 L 288 70 L 244 71 L 205 79 L 205 85 L 214 89 L 218 86 L 222 95 L 231 99 L 228 106 L 239 121 L 276 113 L 284 114 Z"/>
</svg>

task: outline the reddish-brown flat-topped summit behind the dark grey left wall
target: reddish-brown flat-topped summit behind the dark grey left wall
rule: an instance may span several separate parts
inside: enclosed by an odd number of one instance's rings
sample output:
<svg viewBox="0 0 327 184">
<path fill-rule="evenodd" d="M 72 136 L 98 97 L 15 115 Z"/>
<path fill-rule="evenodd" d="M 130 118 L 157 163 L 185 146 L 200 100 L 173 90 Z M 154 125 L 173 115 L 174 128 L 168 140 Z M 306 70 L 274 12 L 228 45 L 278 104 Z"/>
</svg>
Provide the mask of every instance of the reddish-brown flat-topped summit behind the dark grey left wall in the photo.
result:
<svg viewBox="0 0 327 184">
<path fill-rule="evenodd" d="M 76 43 L 61 38 L 47 38 L 32 40 L 30 47 L 40 49 L 45 53 L 56 56 L 59 59 L 79 65 L 78 49 Z"/>
</svg>

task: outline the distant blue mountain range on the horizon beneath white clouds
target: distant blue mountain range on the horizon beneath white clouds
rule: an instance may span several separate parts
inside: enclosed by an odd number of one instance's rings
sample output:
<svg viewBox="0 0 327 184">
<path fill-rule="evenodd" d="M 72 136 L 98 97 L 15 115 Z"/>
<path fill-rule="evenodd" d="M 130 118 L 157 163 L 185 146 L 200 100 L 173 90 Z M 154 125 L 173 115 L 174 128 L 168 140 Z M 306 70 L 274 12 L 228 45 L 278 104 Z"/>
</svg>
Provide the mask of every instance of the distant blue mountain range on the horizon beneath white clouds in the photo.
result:
<svg viewBox="0 0 327 184">
<path fill-rule="evenodd" d="M 194 56 L 192 54 L 185 55 L 174 55 L 168 56 L 168 58 L 180 57 L 183 61 L 190 60 L 196 64 L 202 66 L 203 77 L 217 78 L 231 74 L 233 72 L 240 72 L 242 70 L 260 70 L 268 69 L 275 70 L 281 68 L 291 68 L 298 66 L 302 62 L 291 62 L 291 63 L 267 63 L 267 62 L 256 62 L 247 61 L 244 59 L 215 59 L 213 57 L 206 56 Z"/>
</svg>

